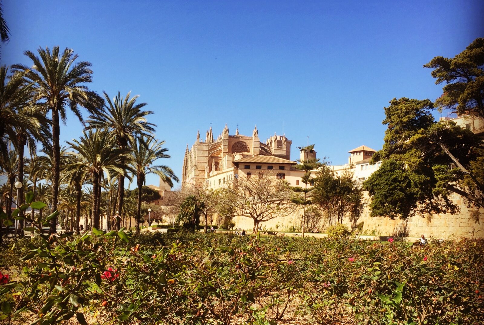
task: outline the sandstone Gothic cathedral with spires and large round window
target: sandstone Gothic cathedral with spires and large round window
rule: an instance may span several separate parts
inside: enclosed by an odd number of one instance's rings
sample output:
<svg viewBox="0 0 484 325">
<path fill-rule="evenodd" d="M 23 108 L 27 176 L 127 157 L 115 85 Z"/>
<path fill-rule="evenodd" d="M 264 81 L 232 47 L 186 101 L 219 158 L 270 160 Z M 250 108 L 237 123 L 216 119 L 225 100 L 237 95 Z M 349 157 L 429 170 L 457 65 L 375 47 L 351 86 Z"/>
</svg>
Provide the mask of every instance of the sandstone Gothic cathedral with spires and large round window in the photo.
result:
<svg viewBox="0 0 484 325">
<path fill-rule="evenodd" d="M 286 136 L 275 134 L 265 143 L 260 142 L 257 126 L 252 136 L 239 134 L 239 129 L 235 135 L 229 135 L 227 124 L 215 140 L 210 127 L 205 141 L 200 139 L 198 132 L 192 148 L 187 145 L 181 186 L 206 182 L 210 188 L 216 188 L 238 177 L 239 173 L 250 177 L 252 170 L 274 170 L 277 177 L 284 179 L 298 174 L 299 179 L 301 172 L 292 167 L 296 162 L 290 160 L 291 144 Z"/>
</svg>

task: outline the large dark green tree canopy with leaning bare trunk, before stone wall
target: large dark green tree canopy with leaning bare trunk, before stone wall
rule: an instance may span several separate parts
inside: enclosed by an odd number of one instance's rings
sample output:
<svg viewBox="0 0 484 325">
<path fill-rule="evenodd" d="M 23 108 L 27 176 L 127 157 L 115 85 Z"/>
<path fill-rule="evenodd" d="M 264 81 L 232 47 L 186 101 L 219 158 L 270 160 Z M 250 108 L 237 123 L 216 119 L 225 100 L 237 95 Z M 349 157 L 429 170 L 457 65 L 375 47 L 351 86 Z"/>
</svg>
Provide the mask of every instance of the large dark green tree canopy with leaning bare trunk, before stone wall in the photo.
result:
<svg viewBox="0 0 484 325">
<path fill-rule="evenodd" d="M 457 193 L 484 207 L 483 142 L 452 121 L 436 122 L 428 100 L 393 99 L 385 107 L 381 167 L 364 183 L 372 215 L 406 218 L 412 213 L 457 211 Z"/>
</svg>

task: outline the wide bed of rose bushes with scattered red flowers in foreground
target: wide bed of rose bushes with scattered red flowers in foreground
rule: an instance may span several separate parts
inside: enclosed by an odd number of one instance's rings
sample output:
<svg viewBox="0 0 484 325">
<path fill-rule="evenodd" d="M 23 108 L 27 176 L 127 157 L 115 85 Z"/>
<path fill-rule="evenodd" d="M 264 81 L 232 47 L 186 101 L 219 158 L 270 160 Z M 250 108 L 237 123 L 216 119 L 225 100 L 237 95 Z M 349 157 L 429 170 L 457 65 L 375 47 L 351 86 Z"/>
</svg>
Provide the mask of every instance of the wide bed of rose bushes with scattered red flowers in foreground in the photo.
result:
<svg viewBox="0 0 484 325">
<path fill-rule="evenodd" d="M 484 240 L 411 247 L 352 238 L 131 236 L 96 229 L 39 235 L 17 279 L 0 273 L 0 321 L 275 324 L 289 314 L 313 324 L 409 325 L 484 317 Z"/>
</svg>

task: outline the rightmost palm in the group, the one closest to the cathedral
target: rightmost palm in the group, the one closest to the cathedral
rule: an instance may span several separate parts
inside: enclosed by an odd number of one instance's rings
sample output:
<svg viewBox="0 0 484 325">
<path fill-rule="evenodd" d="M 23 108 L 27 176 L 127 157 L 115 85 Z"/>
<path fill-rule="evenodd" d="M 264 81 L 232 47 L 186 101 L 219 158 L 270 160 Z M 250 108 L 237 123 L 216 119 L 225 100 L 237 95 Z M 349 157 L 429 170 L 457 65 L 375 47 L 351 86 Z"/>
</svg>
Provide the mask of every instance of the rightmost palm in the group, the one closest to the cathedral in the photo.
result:
<svg viewBox="0 0 484 325">
<path fill-rule="evenodd" d="M 153 163 L 160 158 L 170 158 L 163 148 L 165 141 L 158 141 L 155 139 L 148 139 L 139 137 L 133 147 L 133 161 L 131 162 L 132 169 L 136 175 L 136 185 L 138 186 L 138 201 L 136 211 L 136 234 L 139 234 L 139 218 L 141 215 L 141 190 L 146 180 L 146 175 L 156 174 L 170 187 L 173 187 L 173 181 L 179 181 L 173 170 L 165 165 L 153 165 Z"/>
</svg>

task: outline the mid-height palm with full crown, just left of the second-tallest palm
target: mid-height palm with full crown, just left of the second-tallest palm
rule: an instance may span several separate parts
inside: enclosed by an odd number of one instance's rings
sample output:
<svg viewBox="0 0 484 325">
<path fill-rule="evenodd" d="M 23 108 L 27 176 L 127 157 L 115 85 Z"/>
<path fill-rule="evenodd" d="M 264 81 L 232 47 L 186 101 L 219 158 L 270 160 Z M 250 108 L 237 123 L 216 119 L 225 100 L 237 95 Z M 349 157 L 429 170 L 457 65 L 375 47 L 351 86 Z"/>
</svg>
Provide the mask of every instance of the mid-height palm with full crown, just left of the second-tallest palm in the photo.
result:
<svg viewBox="0 0 484 325">
<path fill-rule="evenodd" d="M 70 155 L 79 169 L 92 179 L 93 203 L 92 216 L 94 228 L 99 228 L 99 212 L 101 197 L 101 180 L 103 174 L 110 179 L 110 175 L 120 173 L 126 175 L 131 170 L 126 162 L 131 159 L 130 150 L 114 147 L 115 138 L 107 131 L 84 131 L 79 140 L 67 142 L 76 152 Z M 73 169 L 77 168 L 72 166 Z"/>
</svg>

